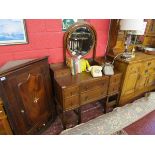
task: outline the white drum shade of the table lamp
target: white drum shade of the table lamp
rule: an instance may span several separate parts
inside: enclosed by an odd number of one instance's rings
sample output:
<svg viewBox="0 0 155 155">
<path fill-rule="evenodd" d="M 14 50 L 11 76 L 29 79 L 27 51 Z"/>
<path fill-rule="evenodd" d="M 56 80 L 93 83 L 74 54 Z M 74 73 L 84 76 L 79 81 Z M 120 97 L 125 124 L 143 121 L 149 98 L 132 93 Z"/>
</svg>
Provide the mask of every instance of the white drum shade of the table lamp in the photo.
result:
<svg viewBox="0 0 155 155">
<path fill-rule="evenodd" d="M 123 31 L 137 31 L 144 28 L 143 19 L 121 19 L 120 30 Z"/>
</svg>

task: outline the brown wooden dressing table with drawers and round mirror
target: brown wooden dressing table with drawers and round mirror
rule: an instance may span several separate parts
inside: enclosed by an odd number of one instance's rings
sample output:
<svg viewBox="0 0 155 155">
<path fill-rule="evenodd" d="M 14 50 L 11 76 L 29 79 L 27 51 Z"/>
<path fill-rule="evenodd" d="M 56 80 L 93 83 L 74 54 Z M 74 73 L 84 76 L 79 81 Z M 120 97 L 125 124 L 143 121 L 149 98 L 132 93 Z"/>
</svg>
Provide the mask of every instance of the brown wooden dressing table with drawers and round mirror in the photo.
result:
<svg viewBox="0 0 155 155">
<path fill-rule="evenodd" d="M 78 38 L 75 39 L 76 41 L 79 40 L 79 52 L 77 50 L 78 47 L 74 47 L 74 37 Z M 86 37 L 87 41 L 82 41 L 80 37 Z M 90 24 L 75 23 L 64 35 L 64 61 L 66 62 L 66 51 L 73 57 L 79 54 L 82 54 L 82 57 L 84 57 L 93 51 L 93 60 L 90 64 L 98 64 L 94 59 L 96 41 L 96 31 Z M 76 55 L 73 55 L 75 53 Z M 78 123 L 80 123 L 81 107 L 83 105 L 101 101 L 103 112 L 106 112 L 106 103 L 110 102 L 111 96 L 117 95 L 119 92 L 120 74 L 115 74 L 111 77 L 103 75 L 97 78 L 93 78 L 90 72 L 71 75 L 70 68 L 66 66 L 66 63 L 51 64 L 50 68 L 55 90 L 54 99 L 64 129 L 66 128 L 65 112 L 74 110 L 78 115 Z M 115 103 L 116 102 L 115 100 Z"/>
</svg>

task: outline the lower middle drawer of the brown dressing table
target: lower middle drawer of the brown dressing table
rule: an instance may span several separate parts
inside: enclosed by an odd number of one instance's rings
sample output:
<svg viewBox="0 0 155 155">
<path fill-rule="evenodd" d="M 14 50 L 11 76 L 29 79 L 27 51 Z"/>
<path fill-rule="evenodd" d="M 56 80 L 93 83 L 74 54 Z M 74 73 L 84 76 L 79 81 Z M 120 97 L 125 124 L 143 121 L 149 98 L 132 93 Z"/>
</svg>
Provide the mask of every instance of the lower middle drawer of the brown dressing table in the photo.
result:
<svg viewBox="0 0 155 155">
<path fill-rule="evenodd" d="M 91 91 L 87 91 L 81 93 L 81 105 L 86 104 L 88 102 L 93 102 L 96 99 L 103 98 L 107 94 L 107 89 L 95 89 Z"/>
</svg>

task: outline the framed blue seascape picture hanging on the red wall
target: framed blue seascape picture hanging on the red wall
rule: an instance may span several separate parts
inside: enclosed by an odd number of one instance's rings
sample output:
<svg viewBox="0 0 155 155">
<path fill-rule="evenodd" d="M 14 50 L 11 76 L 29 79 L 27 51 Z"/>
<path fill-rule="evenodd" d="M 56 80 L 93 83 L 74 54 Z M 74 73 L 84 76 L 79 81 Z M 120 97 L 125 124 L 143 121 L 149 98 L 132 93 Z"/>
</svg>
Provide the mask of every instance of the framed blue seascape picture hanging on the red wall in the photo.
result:
<svg viewBox="0 0 155 155">
<path fill-rule="evenodd" d="M 0 45 L 26 43 L 28 42 L 23 19 L 0 19 Z"/>
</svg>

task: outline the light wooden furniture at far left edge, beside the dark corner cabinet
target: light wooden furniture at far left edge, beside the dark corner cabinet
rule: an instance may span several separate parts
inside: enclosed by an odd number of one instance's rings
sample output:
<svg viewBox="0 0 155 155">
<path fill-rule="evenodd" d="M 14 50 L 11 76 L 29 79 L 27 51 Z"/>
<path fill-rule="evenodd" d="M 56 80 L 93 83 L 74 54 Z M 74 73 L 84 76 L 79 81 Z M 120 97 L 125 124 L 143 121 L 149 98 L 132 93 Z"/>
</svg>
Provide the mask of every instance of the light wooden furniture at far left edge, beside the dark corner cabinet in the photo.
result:
<svg viewBox="0 0 155 155">
<path fill-rule="evenodd" d="M 12 131 L 0 98 L 0 135 L 11 135 Z"/>
</svg>

